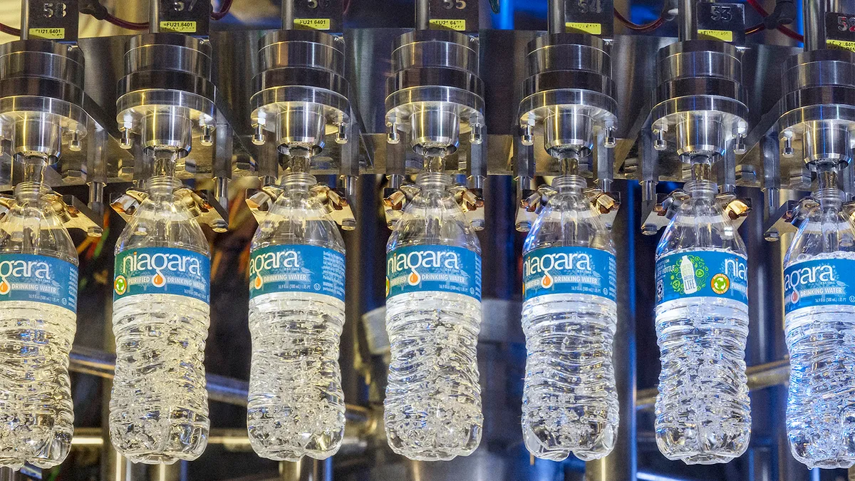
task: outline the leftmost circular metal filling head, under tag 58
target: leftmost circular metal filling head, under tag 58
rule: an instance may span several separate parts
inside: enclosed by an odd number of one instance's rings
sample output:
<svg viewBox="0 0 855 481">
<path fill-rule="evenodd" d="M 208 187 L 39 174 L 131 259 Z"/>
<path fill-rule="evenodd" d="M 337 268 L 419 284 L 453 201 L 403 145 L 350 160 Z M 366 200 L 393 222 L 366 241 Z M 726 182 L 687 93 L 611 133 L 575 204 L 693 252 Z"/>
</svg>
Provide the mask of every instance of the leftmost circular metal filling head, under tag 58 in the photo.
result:
<svg viewBox="0 0 855 481">
<path fill-rule="evenodd" d="M 80 150 L 89 125 L 83 72 L 75 45 L 37 39 L 0 45 L 0 139 L 11 140 L 13 154 L 56 163 L 63 143 Z"/>
</svg>

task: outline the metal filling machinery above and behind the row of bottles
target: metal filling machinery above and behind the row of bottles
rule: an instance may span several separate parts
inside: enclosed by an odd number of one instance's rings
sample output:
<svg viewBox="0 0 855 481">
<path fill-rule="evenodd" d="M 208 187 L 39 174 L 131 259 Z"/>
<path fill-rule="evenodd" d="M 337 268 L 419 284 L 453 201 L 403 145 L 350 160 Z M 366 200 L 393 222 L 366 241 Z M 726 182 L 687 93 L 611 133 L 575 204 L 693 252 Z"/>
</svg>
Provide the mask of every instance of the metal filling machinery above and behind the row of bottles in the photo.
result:
<svg viewBox="0 0 855 481">
<path fill-rule="evenodd" d="M 0 0 L 0 22 L 0 190 L 32 175 L 56 190 L 80 228 L 81 279 L 72 454 L 0 479 L 847 478 L 788 452 L 781 258 L 812 187 L 839 182 L 855 199 L 852 0 Z M 197 461 L 149 467 L 116 454 L 104 428 L 109 280 L 123 218 L 163 169 L 211 228 L 212 436 Z M 382 429 L 384 247 L 423 169 L 455 175 L 489 259 L 484 436 L 442 463 L 392 454 Z M 276 180 L 295 170 L 317 176 L 345 229 L 348 424 L 332 459 L 275 463 L 245 433 L 246 256 Z M 519 423 L 522 240 L 566 173 L 591 179 L 618 252 L 621 425 L 614 452 L 587 464 L 530 457 Z M 692 178 L 719 185 L 756 273 L 752 442 L 728 465 L 666 460 L 652 432 L 653 252 Z"/>
</svg>

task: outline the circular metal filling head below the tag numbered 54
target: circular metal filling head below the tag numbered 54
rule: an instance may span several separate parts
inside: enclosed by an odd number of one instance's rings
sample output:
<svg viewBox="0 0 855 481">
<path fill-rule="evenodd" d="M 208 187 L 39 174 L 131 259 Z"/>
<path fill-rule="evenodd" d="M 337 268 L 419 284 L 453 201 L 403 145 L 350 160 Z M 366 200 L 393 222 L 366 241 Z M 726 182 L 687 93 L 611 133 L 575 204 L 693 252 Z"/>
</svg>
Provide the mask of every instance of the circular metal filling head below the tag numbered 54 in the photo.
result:
<svg viewBox="0 0 855 481">
<path fill-rule="evenodd" d="M 616 128 L 611 57 L 602 39 L 579 33 L 543 35 L 528 44 L 522 86 L 523 143 L 543 134 L 552 157 L 591 153 L 595 131 Z"/>
</svg>

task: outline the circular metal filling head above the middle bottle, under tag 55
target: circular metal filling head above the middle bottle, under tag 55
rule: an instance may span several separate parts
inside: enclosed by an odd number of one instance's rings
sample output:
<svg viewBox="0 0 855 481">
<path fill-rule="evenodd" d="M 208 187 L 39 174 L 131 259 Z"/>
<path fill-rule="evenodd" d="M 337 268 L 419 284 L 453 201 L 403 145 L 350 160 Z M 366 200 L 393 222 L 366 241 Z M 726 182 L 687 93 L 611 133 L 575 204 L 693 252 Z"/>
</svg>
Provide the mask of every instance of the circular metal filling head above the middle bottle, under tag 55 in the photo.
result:
<svg viewBox="0 0 855 481">
<path fill-rule="evenodd" d="M 386 86 L 389 140 L 398 131 L 422 155 L 457 151 L 460 134 L 481 143 L 484 82 L 478 76 L 478 39 L 445 30 L 404 33 L 392 45 L 392 77 Z"/>
</svg>

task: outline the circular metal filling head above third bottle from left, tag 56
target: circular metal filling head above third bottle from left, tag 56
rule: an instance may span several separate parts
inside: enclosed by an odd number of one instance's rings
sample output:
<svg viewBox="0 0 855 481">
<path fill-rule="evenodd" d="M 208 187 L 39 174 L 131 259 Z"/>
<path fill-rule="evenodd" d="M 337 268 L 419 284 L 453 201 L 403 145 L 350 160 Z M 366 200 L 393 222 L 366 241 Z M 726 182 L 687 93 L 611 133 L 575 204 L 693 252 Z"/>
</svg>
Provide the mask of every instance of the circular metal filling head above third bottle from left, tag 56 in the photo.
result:
<svg viewBox="0 0 855 481">
<path fill-rule="evenodd" d="M 256 143 L 275 134 L 280 151 L 315 153 L 327 135 L 345 144 L 350 135 L 350 83 L 345 79 L 344 39 L 315 30 L 280 30 L 259 40 L 261 73 L 251 98 Z"/>
</svg>

